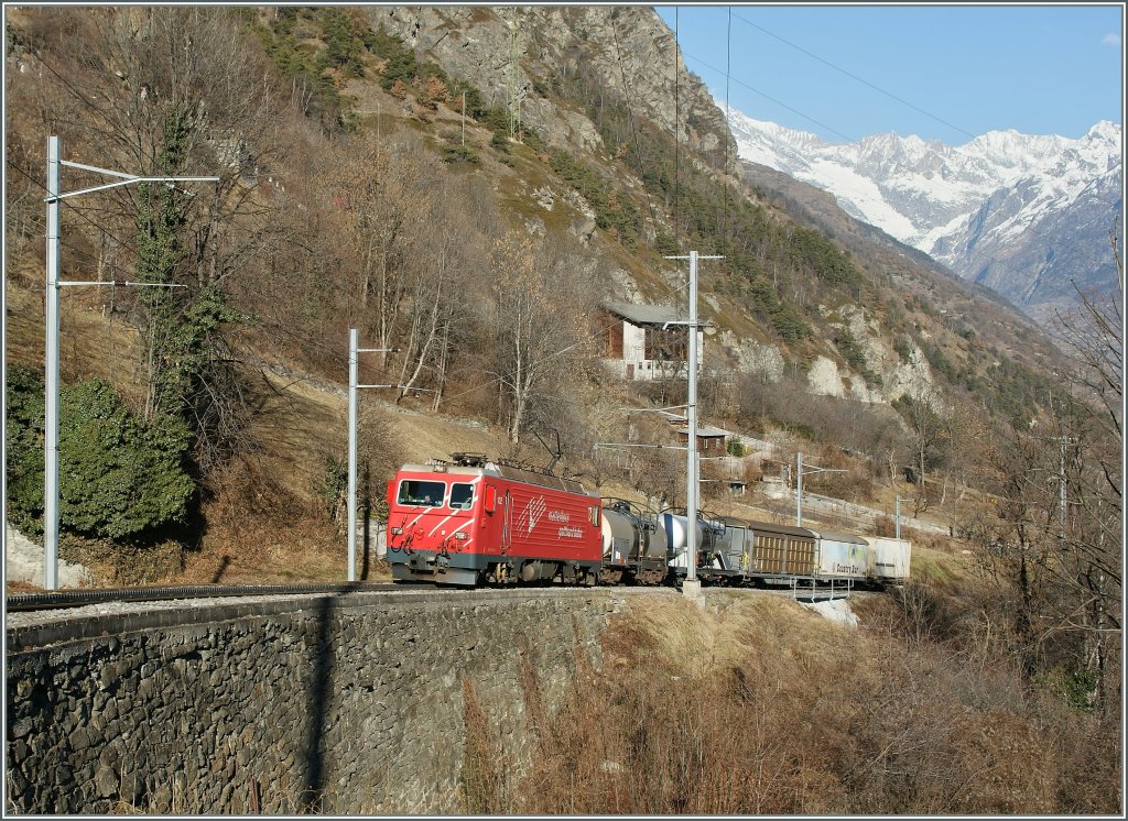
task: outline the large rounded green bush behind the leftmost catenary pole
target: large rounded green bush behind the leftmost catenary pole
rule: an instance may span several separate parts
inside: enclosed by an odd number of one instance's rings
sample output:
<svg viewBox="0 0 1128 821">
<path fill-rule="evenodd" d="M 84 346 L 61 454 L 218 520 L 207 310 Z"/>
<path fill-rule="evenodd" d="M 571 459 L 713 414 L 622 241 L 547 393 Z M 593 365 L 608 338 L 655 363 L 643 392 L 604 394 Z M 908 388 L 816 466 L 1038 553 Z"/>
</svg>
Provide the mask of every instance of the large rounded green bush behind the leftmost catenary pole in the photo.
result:
<svg viewBox="0 0 1128 821">
<path fill-rule="evenodd" d="M 43 382 L 27 368 L 8 380 L 8 505 L 12 523 L 43 532 Z M 64 387 L 59 403 L 59 521 L 94 538 L 141 539 L 183 524 L 195 493 L 185 471 L 186 425 L 138 419 L 113 386 Z"/>
</svg>

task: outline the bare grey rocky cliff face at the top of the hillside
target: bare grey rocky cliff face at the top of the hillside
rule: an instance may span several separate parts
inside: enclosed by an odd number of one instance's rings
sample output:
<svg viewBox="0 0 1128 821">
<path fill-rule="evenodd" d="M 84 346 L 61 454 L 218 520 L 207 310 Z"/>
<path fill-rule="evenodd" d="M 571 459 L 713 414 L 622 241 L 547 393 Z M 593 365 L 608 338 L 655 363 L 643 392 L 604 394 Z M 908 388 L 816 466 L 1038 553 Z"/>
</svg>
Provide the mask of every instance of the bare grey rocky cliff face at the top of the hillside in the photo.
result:
<svg viewBox="0 0 1128 821">
<path fill-rule="evenodd" d="M 626 99 L 635 117 L 668 133 L 677 121 L 680 144 L 711 164 L 724 161 L 731 141 L 724 114 L 687 71 L 673 33 L 649 7 L 400 6 L 368 14 L 373 27 L 382 24 L 421 57 L 474 83 L 487 102 L 505 105 L 515 89 L 522 122 L 549 144 L 585 152 L 602 148 L 587 117 L 547 98 L 555 77 L 585 69 Z M 730 170 L 739 171 L 731 142 L 728 154 Z"/>
</svg>

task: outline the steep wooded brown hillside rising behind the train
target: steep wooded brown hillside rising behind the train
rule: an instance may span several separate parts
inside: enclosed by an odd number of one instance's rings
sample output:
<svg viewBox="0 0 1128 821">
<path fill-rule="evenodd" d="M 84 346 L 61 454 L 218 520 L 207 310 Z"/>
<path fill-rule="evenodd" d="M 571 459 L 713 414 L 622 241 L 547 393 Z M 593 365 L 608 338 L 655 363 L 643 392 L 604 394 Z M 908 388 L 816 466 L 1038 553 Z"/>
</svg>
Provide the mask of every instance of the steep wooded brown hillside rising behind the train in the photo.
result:
<svg viewBox="0 0 1128 821">
<path fill-rule="evenodd" d="M 6 470 L 21 532 L 42 530 L 58 135 L 72 163 L 221 178 L 64 200 L 64 279 L 183 286 L 63 292 L 63 551 L 103 580 L 206 579 L 220 557 L 212 580 L 228 563 L 340 578 L 350 328 L 378 349 L 361 382 L 395 386 L 362 404 L 373 515 L 404 458 L 546 462 L 537 439 L 556 434 L 563 467 L 597 489 L 681 503 L 667 452 L 593 448 L 659 441 L 664 422 L 627 409 L 685 401 L 684 380 L 600 368 L 598 306 L 684 305 L 685 264 L 666 257 L 697 250 L 724 257 L 700 271 L 703 418 L 840 471 L 812 491 L 944 510 L 961 539 L 948 550 L 970 551 L 997 594 L 969 630 L 998 618 L 992 652 L 1028 684 L 1118 703 L 1118 298 L 1068 318 L 1056 349 L 834 209 L 766 194 L 647 8 L 7 15 Z M 63 171 L 64 190 L 106 181 Z M 721 487 L 706 491 L 719 507 Z"/>
</svg>

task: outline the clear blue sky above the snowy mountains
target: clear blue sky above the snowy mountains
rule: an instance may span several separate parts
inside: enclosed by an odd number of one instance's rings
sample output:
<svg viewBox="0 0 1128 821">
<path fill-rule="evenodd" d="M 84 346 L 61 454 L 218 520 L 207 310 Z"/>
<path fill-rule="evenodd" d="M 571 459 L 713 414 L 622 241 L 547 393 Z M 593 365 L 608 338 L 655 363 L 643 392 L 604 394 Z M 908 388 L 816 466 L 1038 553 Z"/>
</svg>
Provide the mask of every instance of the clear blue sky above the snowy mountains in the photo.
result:
<svg viewBox="0 0 1128 821">
<path fill-rule="evenodd" d="M 728 96 L 829 142 L 897 132 L 959 145 L 1123 123 L 1120 3 L 678 8 L 686 65 L 722 109 Z M 655 10 L 673 29 L 675 7 Z"/>
</svg>

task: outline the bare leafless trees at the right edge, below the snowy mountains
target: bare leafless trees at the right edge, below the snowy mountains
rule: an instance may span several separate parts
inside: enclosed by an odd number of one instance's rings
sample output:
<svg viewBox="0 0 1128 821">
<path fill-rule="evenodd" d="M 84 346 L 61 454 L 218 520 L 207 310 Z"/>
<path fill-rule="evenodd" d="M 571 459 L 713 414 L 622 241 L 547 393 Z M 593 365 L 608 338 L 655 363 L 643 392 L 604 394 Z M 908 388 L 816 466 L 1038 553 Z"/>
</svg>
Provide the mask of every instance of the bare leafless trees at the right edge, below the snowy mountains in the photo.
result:
<svg viewBox="0 0 1128 821">
<path fill-rule="evenodd" d="M 1113 242 L 1113 255 L 1120 269 Z M 996 516 L 975 528 L 988 578 L 1016 599 L 1028 676 L 1054 675 L 1116 717 L 1122 627 L 1122 329 L 1120 294 L 1083 296 L 1060 318 L 1073 395 L 988 447 Z"/>
</svg>

